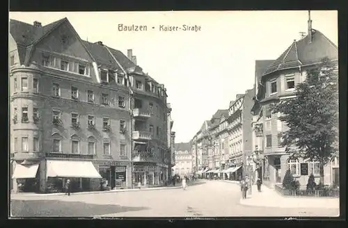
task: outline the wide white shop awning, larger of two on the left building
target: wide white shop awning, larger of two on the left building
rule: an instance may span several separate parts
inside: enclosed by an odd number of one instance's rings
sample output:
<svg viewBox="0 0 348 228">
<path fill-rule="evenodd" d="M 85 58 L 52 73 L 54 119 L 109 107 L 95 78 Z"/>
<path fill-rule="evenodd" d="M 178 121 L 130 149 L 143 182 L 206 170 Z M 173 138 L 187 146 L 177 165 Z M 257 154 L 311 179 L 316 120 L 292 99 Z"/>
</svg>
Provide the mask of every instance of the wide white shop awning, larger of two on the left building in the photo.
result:
<svg viewBox="0 0 348 228">
<path fill-rule="evenodd" d="M 47 177 L 102 178 L 91 161 L 47 160 Z"/>
</svg>

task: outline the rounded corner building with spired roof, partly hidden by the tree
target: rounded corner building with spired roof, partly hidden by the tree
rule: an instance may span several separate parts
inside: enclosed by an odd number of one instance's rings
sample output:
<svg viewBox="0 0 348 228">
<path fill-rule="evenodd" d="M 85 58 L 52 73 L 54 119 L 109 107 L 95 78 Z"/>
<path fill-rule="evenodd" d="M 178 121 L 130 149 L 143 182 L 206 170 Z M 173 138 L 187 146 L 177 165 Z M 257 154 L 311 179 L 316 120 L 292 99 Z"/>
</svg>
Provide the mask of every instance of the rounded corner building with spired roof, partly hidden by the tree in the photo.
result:
<svg viewBox="0 0 348 228">
<path fill-rule="evenodd" d="M 315 175 L 317 183 L 319 181 L 319 163 L 290 159 L 285 148 L 281 147 L 282 132 L 287 130 L 287 126 L 278 120 L 279 113 L 271 113 L 270 105 L 294 97 L 296 85 L 304 81 L 306 72 L 317 66 L 324 57 L 337 61 L 338 47 L 324 34 L 312 29 L 309 20 L 308 35 L 301 40 L 294 40 L 279 58 L 267 66 L 261 76 L 255 76 L 258 85 L 253 106 L 254 154 L 261 154 L 258 158 L 262 158 L 261 175 L 269 186 L 281 184 L 286 170 L 290 170 L 302 187 L 306 186 L 310 173 Z M 337 159 L 324 168 L 324 184 L 339 183 Z M 308 163 L 308 175 L 301 175 L 300 163 Z"/>
</svg>

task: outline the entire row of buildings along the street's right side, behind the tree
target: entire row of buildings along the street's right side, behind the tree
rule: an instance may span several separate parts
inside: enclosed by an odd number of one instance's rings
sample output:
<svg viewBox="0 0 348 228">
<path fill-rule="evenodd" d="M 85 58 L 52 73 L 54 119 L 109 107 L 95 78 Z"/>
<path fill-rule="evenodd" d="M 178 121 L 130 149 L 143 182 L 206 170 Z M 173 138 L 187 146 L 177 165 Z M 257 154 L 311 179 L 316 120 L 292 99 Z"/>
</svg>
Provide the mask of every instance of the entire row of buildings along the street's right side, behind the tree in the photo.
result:
<svg viewBox="0 0 348 228">
<path fill-rule="evenodd" d="M 224 179 L 260 177 L 274 186 L 290 170 L 306 185 L 308 175 L 301 175 L 300 164 L 308 163 L 308 174 L 313 173 L 319 183 L 319 163 L 290 159 L 285 153 L 281 142 L 287 126 L 278 120 L 279 113 L 271 113 L 270 105 L 294 97 L 296 84 L 324 57 L 338 61 L 338 47 L 312 29 L 309 19 L 306 37 L 294 40 L 276 60 L 256 60 L 254 88 L 205 120 L 191 140 L 193 171 Z M 324 181 L 339 184 L 338 156 L 324 168 Z"/>
</svg>

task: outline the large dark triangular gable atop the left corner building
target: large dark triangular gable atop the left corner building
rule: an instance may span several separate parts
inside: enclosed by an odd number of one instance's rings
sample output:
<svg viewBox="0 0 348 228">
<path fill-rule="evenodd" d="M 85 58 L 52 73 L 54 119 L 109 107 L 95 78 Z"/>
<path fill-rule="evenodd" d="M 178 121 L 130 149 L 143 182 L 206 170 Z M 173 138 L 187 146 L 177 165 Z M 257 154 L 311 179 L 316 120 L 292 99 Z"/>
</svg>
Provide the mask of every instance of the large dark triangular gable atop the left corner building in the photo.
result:
<svg viewBox="0 0 348 228">
<path fill-rule="evenodd" d="M 56 29 L 45 38 L 38 41 L 35 45 L 35 52 L 31 60 L 40 58 L 42 50 L 93 62 L 93 58 L 90 57 L 79 35 L 74 31 L 74 28 L 68 20 L 56 27 Z"/>
</svg>

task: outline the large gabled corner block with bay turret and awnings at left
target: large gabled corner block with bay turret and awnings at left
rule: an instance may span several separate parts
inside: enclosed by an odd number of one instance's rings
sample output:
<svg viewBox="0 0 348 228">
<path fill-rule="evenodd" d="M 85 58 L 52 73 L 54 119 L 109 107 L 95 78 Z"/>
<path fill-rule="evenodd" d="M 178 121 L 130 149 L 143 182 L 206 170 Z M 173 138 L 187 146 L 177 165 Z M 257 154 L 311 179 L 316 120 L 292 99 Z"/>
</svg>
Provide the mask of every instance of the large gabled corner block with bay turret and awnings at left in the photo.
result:
<svg viewBox="0 0 348 228">
<path fill-rule="evenodd" d="M 81 40 L 67 18 L 10 20 L 11 189 L 160 185 L 175 163 L 163 84 L 127 56 Z"/>
</svg>

